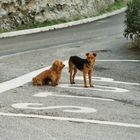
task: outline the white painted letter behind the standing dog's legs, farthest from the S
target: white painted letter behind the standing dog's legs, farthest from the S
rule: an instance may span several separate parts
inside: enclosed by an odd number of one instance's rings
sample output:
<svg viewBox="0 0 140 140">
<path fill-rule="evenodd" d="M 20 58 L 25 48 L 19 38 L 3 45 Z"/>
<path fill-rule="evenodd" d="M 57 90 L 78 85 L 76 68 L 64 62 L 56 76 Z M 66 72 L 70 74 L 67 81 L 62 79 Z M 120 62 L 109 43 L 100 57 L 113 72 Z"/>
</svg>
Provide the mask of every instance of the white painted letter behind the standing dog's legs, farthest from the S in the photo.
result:
<svg viewBox="0 0 140 140">
<path fill-rule="evenodd" d="M 83 80 L 83 76 L 76 76 L 76 80 Z M 126 84 L 126 85 L 135 85 L 139 86 L 139 83 L 131 83 L 131 82 L 122 82 L 122 81 L 115 81 L 112 78 L 106 78 L 106 77 L 92 77 L 93 81 L 100 81 L 100 82 L 110 82 L 110 83 L 117 83 L 117 84 Z"/>
</svg>

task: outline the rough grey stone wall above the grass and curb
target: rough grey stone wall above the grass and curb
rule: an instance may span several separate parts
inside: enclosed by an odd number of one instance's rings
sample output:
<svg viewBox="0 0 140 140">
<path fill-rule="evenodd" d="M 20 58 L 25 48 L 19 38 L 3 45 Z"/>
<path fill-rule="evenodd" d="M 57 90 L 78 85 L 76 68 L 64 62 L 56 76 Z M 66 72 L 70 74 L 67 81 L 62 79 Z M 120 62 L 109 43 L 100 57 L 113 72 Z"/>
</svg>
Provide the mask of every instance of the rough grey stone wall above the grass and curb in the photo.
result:
<svg viewBox="0 0 140 140">
<path fill-rule="evenodd" d="M 114 0 L 0 0 L 0 28 L 95 15 Z"/>
</svg>

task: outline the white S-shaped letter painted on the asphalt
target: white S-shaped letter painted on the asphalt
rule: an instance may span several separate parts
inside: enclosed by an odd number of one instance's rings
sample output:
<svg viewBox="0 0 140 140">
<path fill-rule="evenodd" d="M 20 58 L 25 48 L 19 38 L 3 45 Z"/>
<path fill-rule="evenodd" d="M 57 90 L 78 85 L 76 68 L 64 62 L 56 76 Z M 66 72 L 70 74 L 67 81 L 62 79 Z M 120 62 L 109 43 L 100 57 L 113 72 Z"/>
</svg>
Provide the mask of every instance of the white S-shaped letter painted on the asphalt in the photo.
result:
<svg viewBox="0 0 140 140">
<path fill-rule="evenodd" d="M 33 107 L 34 106 L 34 107 Z M 35 107 L 38 106 L 38 107 Z M 13 108 L 18 109 L 33 109 L 33 110 L 50 110 L 50 109 L 63 109 L 63 112 L 71 112 L 71 113 L 94 113 L 97 110 L 89 107 L 81 107 L 81 106 L 47 106 L 47 107 L 39 107 L 43 106 L 41 103 L 16 103 L 12 104 Z M 69 108 L 69 109 L 67 109 Z"/>
</svg>

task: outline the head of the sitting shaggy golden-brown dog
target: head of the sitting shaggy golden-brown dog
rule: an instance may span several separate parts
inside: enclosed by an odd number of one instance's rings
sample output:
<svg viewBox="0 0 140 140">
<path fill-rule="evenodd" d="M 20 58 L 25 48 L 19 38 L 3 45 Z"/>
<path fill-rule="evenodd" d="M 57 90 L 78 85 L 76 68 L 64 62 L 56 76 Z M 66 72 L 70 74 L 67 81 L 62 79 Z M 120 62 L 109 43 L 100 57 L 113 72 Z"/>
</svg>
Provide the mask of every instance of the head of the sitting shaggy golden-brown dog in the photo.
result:
<svg viewBox="0 0 140 140">
<path fill-rule="evenodd" d="M 65 67 L 65 65 L 63 64 L 63 62 L 61 60 L 55 60 L 53 62 L 52 68 L 53 70 L 57 71 L 57 72 L 61 72 L 61 70 Z"/>
</svg>

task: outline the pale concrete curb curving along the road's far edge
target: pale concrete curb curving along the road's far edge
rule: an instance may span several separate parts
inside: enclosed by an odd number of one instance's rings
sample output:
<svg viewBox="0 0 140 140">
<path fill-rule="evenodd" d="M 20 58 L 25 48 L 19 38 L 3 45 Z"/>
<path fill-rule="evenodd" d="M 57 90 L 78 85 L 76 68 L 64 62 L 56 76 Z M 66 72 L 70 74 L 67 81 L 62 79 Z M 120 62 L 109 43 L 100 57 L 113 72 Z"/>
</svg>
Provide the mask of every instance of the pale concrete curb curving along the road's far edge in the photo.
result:
<svg viewBox="0 0 140 140">
<path fill-rule="evenodd" d="M 27 34 L 33 34 L 33 33 L 39 33 L 39 32 L 46 32 L 46 31 L 50 31 L 50 30 L 62 29 L 62 28 L 70 27 L 70 26 L 89 23 L 89 22 L 93 22 L 93 21 L 97 21 L 100 19 L 104 19 L 104 18 L 113 16 L 113 15 L 117 15 L 119 13 L 124 12 L 125 10 L 126 10 L 126 7 L 113 11 L 113 12 L 110 12 L 110 13 L 105 13 L 100 16 L 92 17 L 92 18 L 86 18 L 86 19 L 82 19 L 82 20 L 57 24 L 57 25 L 53 25 L 53 26 L 41 27 L 41 28 L 34 28 L 34 29 L 27 29 L 27 30 L 25 29 L 25 30 L 20 30 L 20 31 L 0 33 L 0 38 L 14 37 L 14 36 L 19 36 L 19 35 L 27 35 Z"/>
</svg>

